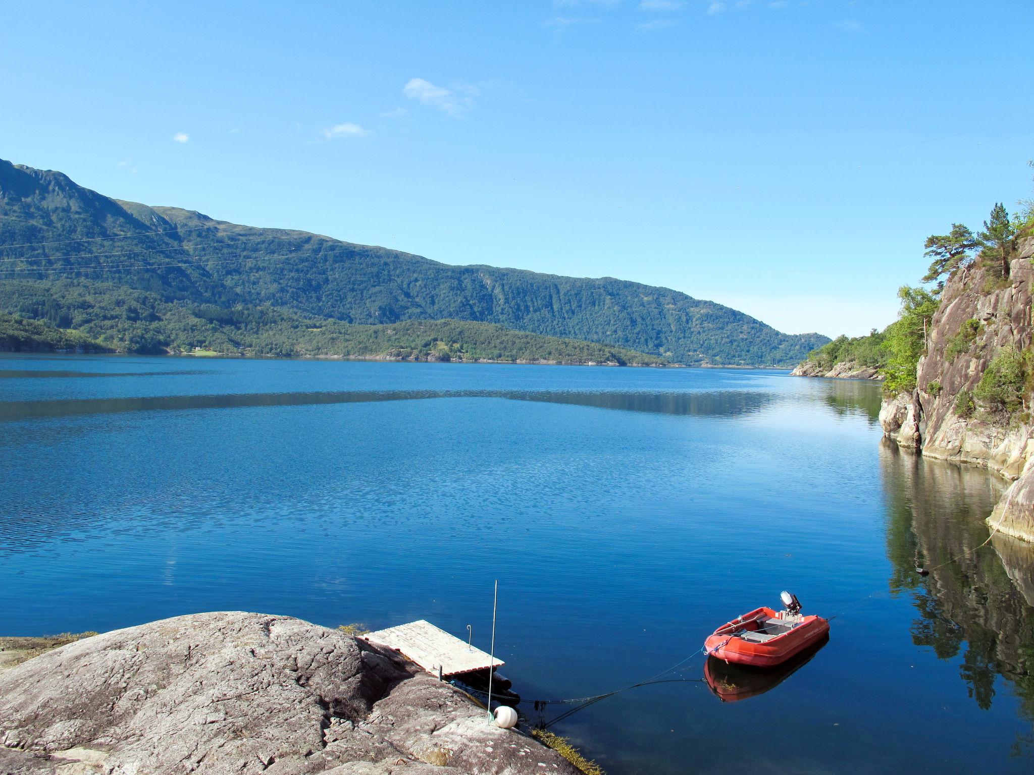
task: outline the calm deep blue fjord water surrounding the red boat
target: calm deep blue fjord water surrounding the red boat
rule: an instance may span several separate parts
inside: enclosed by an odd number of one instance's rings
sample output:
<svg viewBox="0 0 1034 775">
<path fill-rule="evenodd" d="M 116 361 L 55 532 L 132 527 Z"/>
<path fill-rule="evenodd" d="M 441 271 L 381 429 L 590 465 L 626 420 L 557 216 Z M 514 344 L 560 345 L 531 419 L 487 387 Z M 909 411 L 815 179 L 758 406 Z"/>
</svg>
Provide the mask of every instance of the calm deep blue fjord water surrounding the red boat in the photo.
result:
<svg viewBox="0 0 1034 775">
<path fill-rule="evenodd" d="M 487 649 L 498 579 L 515 689 L 578 698 L 790 589 L 841 614 L 791 674 L 723 702 L 697 655 L 551 730 L 612 775 L 1030 772 L 1034 550 L 978 548 L 1003 484 L 878 408 L 783 372 L 4 357 L 0 634 L 246 610 Z"/>
</svg>

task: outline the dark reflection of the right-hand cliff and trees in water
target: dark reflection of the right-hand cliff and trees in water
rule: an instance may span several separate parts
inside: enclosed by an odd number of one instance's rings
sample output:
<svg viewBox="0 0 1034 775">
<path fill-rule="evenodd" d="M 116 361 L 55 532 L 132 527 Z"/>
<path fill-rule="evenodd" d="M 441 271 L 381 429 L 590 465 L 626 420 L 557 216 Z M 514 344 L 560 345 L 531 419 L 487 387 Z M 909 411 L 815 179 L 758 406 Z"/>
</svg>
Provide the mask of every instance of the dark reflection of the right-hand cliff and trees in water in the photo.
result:
<svg viewBox="0 0 1034 775">
<path fill-rule="evenodd" d="M 970 696 L 987 709 L 1008 681 L 1034 721 L 1034 546 L 996 534 L 984 519 L 1005 483 L 974 466 L 924 460 L 884 442 L 891 593 L 912 595 L 912 640 L 941 659 L 962 654 Z M 916 572 L 916 564 L 930 569 Z M 1032 740 L 1024 741 L 1031 745 Z"/>
</svg>

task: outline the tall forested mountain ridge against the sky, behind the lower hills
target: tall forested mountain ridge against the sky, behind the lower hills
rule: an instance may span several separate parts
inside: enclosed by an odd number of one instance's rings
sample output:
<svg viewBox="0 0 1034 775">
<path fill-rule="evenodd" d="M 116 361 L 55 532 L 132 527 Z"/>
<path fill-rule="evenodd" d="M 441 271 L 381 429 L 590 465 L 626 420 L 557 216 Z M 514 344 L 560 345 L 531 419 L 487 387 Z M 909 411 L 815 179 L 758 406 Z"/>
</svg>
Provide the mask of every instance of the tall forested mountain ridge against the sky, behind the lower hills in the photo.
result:
<svg viewBox="0 0 1034 775">
<path fill-rule="evenodd" d="M 534 249 L 534 244 L 529 244 Z M 686 364 L 785 366 L 828 341 L 790 336 L 741 312 L 667 288 L 488 266 L 453 267 L 379 247 L 216 221 L 119 202 L 61 173 L 0 161 L 3 309 L 64 326 L 117 304 L 113 287 L 147 291 L 125 335 L 146 338 L 157 300 L 231 314 L 273 307 L 303 317 L 377 324 L 472 320 L 652 353 Z M 64 281 L 62 293 L 52 288 Z M 26 308 L 18 299 L 54 297 Z M 236 313 L 234 313 L 236 314 Z M 154 320 L 151 320 L 154 322 Z M 140 323 L 134 326 L 133 323 Z M 153 333 L 153 332 L 152 332 Z"/>
</svg>

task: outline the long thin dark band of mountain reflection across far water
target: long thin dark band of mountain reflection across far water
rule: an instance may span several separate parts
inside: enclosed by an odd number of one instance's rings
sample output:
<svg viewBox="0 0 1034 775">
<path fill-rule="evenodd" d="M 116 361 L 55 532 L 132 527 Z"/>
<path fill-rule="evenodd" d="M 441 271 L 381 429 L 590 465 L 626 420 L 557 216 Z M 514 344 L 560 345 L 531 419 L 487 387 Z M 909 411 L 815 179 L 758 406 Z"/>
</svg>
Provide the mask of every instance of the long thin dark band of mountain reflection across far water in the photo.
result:
<svg viewBox="0 0 1034 775">
<path fill-rule="evenodd" d="M 3 372 L 0 372 L 3 373 Z M 771 393 L 722 391 L 615 392 L 615 391 L 326 391 L 318 393 L 245 393 L 216 396 L 146 396 L 98 398 L 70 401 L 3 401 L 0 421 L 59 417 L 75 414 L 111 414 L 127 411 L 183 409 L 230 409 L 255 406 L 308 406 L 351 404 L 370 401 L 416 401 L 432 398 L 501 398 L 513 401 L 542 401 L 600 409 L 621 409 L 658 414 L 735 416 L 758 411 L 771 403 Z"/>
</svg>

